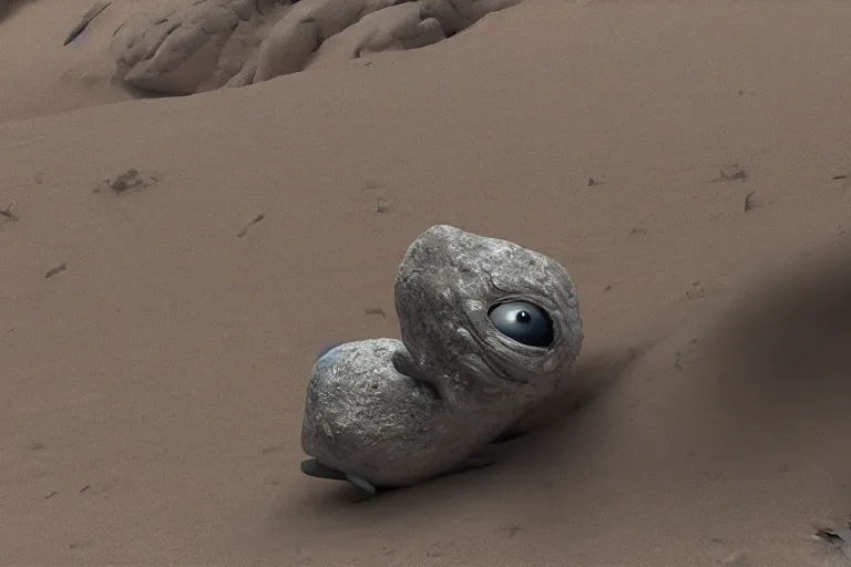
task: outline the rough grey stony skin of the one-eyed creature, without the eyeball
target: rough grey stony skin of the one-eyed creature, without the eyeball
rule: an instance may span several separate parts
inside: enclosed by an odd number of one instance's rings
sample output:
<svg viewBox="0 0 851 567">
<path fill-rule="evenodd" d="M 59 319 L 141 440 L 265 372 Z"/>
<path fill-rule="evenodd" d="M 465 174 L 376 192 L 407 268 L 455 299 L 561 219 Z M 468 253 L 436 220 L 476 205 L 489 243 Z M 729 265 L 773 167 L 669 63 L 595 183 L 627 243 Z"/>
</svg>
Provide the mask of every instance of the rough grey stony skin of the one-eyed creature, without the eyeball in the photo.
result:
<svg viewBox="0 0 851 567">
<path fill-rule="evenodd" d="M 543 308 L 548 348 L 496 330 L 489 308 Z M 376 486 L 457 470 L 570 374 L 583 333 L 565 269 L 515 244 L 430 228 L 396 278 L 401 341 L 349 342 L 321 357 L 307 388 L 301 446 L 320 463 Z"/>
</svg>

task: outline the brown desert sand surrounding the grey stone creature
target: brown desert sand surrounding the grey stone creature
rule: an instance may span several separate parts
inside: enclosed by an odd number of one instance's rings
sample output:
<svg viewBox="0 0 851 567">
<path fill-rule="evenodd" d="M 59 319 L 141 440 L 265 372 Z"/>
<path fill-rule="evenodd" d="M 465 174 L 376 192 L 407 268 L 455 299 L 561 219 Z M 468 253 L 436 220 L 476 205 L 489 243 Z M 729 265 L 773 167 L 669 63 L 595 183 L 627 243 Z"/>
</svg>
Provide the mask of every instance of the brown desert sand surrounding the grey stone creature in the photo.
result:
<svg viewBox="0 0 851 567">
<path fill-rule="evenodd" d="M 851 3 L 526 0 L 156 100 L 102 56 L 146 2 L 65 48 L 89 0 L 18 3 L 0 565 L 851 564 L 812 537 L 851 517 Z M 496 465 L 363 501 L 299 472 L 308 372 L 398 337 L 434 224 L 567 268 L 576 388 Z"/>
</svg>

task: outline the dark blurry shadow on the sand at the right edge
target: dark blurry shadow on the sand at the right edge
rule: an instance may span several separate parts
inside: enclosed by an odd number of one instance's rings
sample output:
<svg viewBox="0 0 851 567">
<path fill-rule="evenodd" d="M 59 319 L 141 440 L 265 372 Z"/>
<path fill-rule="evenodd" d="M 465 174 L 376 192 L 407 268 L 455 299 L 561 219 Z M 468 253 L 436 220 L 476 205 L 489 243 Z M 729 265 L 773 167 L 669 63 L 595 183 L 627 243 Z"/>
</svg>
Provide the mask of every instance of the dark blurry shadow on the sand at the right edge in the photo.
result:
<svg viewBox="0 0 851 567">
<path fill-rule="evenodd" d="M 847 412 L 851 246 L 813 252 L 755 282 L 714 329 L 707 350 L 719 410 L 735 423 Z"/>
</svg>

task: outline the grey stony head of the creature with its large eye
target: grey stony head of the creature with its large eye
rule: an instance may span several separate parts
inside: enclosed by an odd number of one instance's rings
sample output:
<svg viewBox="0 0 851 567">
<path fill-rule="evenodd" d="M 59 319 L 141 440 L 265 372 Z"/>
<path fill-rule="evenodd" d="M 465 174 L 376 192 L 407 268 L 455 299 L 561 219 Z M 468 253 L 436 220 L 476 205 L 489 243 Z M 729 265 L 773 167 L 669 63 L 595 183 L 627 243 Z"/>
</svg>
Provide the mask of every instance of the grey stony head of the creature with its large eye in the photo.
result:
<svg viewBox="0 0 851 567">
<path fill-rule="evenodd" d="M 445 225 L 408 249 L 396 310 L 410 353 L 399 365 L 432 381 L 546 388 L 582 347 L 576 288 L 558 262 Z"/>
</svg>

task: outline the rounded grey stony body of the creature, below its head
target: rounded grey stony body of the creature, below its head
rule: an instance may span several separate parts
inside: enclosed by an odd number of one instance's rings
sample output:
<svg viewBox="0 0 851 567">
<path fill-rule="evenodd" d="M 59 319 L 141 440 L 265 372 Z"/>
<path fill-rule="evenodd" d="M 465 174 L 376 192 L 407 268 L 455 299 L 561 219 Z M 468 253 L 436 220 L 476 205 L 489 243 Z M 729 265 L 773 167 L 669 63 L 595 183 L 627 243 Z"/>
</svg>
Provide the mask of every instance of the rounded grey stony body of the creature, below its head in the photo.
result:
<svg viewBox="0 0 851 567">
<path fill-rule="evenodd" d="M 403 349 L 393 339 L 350 342 L 317 362 L 307 404 L 322 417 L 305 423 L 306 453 L 377 486 L 402 486 L 459 466 L 519 417 L 513 406 L 453 411 L 430 383 L 394 369 Z"/>
</svg>

